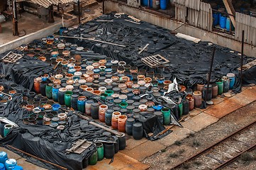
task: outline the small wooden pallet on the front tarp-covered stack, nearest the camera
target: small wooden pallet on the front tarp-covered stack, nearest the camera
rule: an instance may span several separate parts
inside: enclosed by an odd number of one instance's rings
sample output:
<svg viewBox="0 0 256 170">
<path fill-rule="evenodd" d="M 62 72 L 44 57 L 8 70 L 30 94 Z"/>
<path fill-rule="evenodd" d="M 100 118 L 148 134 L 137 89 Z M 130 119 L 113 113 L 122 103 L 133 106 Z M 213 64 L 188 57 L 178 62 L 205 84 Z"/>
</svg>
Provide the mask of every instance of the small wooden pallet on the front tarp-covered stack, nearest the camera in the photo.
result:
<svg viewBox="0 0 256 170">
<path fill-rule="evenodd" d="M 92 145 L 92 143 L 88 142 L 87 140 L 77 140 L 77 142 L 74 142 L 74 144 L 72 145 L 72 147 L 70 149 L 66 149 L 66 152 L 82 154 L 82 152 L 84 152 L 91 145 Z"/>
</svg>

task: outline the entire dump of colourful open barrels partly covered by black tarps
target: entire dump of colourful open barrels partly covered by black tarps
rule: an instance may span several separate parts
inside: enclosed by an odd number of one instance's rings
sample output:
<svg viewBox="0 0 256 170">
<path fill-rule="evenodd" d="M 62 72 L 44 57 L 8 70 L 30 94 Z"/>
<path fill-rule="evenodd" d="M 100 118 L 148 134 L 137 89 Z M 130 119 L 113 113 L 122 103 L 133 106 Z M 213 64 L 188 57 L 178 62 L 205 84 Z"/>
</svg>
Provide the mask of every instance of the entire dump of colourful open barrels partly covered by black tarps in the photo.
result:
<svg viewBox="0 0 256 170">
<path fill-rule="evenodd" d="M 238 52 L 125 14 L 58 34 L 0 55 L 0 143 L 44 159 L 31 162 L 48 169 L 111 163 L 128 135 L 158 140 L 204 100 L 240 91 Z M 254 70 L 245 82 L 255 82 Z"/>
</svg>

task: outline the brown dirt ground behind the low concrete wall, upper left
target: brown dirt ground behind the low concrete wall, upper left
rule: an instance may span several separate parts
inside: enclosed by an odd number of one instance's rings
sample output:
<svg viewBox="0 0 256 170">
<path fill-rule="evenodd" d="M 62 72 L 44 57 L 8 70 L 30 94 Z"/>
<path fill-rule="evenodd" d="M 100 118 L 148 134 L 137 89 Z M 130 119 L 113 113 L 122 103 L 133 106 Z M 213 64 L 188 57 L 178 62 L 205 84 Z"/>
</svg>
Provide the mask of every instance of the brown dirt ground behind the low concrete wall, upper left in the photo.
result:
<svg viewBox="0 0 256 170">
<path fill-rule="evenodd" d="M 61 18 L 55 17 L 55 23 L 61 21 Z M 52 23 L 48 23 L 44 18 L 38 18 L 31 13 L 24 12 L 21 14 L 21 18 L 18 18 L 18 32 L 20 35 L 24 35 L 24 31 L 26 31 L 26 35 L 30 33 L 35 33 L 38 30 L 46 28 L 48 26 L 52 26 Z M 0 33 L 0 45 L 4 45 L 7 42 L 12 40 L 16 40 L 20 37 L 13 36 L 13 22 L 7 21 L 2 23 L 2 33 Z"/>
</svg>

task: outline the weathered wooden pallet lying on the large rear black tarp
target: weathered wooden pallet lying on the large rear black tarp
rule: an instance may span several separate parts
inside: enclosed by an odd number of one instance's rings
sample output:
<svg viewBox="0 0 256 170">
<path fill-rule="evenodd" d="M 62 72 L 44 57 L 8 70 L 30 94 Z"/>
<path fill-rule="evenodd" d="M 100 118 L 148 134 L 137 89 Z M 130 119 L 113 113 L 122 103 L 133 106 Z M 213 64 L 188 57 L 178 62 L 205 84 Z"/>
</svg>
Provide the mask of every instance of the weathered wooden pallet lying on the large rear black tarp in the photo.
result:
<svg viewBox="0 0 256 170">
<path fill-rule="evenodd" d="M 149 57 L 144 57 L 141 59 L 141 61 L 151 68 L 160 67 L 164 64 L 169 63 L 169 60 L 167 60 L 165 57 L 162 57 L 162 55 L 152 55 Z"/>
</svg>

